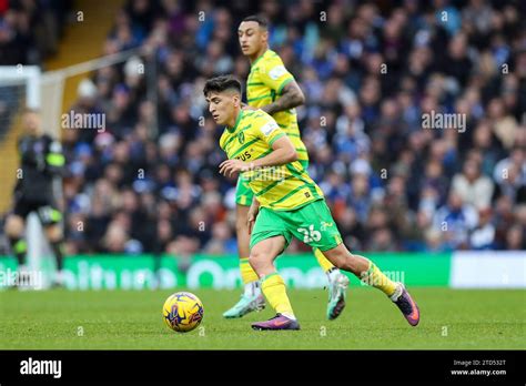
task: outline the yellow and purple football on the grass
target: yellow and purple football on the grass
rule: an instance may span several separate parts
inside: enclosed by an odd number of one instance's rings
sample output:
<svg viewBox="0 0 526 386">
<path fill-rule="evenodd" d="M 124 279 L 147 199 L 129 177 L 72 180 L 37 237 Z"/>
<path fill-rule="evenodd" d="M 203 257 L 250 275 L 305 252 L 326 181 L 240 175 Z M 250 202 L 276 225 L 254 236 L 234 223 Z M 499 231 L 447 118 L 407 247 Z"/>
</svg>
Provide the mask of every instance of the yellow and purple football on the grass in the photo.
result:
<svg viewBox="0 0 526 386">
<path fill-rule="evenodd" d="M 162 308 L 164 323 L 178 332 L 188 333 L 201 324 L 203 303 L 190 292 L 176 292 L 170 295 Z"/>
</svg>

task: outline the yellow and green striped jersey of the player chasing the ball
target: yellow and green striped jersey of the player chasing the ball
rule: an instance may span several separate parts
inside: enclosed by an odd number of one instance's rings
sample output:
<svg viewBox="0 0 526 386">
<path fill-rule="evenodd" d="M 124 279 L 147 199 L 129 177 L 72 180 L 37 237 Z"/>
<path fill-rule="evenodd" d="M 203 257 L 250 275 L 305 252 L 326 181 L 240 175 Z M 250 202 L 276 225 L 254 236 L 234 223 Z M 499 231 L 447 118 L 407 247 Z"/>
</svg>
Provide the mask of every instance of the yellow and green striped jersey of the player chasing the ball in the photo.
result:
<svg viewBox="0 0 526 386">
<path fill-rule="evenodd" d="M 220 146 L 229 160 L 251 163 L 272 152 L 272 144 L 286 135 L 271 115 L 262 110 L 242 110 L 233 128 L 225 128 Z M 281 166 L 244 172 L 261 206 L 292 211 L 323 199 L 322 190 L 308 176 L 300 161 Z"/>
</svg>

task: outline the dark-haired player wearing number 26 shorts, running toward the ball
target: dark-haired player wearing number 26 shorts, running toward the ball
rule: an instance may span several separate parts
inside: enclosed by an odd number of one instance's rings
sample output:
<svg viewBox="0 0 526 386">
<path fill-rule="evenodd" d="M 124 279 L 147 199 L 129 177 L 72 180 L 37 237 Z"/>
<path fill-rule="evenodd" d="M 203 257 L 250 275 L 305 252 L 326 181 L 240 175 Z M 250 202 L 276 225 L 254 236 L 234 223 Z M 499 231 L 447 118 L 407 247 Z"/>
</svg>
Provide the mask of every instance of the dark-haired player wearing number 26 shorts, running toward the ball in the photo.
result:
<svg viewBox="0 0 526 386">
<path fill-rule="evenodd" d="M 392 282 L 373 262 L 352 254 L 342 243 L 322 191 L 302 167 L 291 139 L 276 121 L 262 110 L 242 109 L 241 83 L 233 77 L 208 80 L 203 92 L 214 121 L 226 126 L 220 145 L 229 160 L 220 164 L 220 173 L 241 173 L 254 193 L 246 219 L 249 264 L 276 316 L 254 323 L 252 328 L 300 329 L 285 283 L 274 266 L 292 237 L 318 248 L 338 268 L 381 290 L 416 326 L 419 311 L 404 285 Z"/>
</svg>

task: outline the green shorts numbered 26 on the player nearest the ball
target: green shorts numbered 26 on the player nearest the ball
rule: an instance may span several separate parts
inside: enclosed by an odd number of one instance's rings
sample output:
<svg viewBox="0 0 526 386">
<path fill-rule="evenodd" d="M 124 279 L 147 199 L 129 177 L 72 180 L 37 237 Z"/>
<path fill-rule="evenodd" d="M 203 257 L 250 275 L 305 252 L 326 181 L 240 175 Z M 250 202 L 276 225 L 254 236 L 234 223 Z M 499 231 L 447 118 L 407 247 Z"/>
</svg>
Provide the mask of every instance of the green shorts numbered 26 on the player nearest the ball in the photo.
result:
<svg viewBox="0 0 526 386">
<path fill-rule="evenodd" d="M 342 243 L 342 236 L 325 200 L 313 201 L 294 211 L 262 207 L 255 219 L 250 247 L 274 236 L 285 237 L 285 248 L 293 236 L 321 251 L 334 248 Z"/>
</svg>

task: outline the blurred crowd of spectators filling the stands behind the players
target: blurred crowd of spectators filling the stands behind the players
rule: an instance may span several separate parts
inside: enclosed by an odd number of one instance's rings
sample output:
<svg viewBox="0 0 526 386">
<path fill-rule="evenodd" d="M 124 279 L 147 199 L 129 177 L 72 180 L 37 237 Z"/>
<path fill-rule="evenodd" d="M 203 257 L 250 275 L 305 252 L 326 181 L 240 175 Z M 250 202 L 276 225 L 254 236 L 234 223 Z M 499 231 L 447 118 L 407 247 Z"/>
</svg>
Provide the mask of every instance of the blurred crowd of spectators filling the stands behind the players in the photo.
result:
<svg viewBox="0 0 526 386">
<path fill-rule="evenodd" d="M 82 81 L 71 106 L 104 113 L 105 131 L 62 131 L 68 253 L 235 253 L 235 181 L 218 172 L 202 87 L 244 83 L 236 30 L 259 12 L 305 93 L 308 172 L 352 250 L 526 247 L 525 2 L 130 0 L 102 53 L 145 53 Z M 432 111 L 466 126 L 424 129 Z"/>
</svg>

